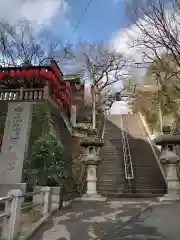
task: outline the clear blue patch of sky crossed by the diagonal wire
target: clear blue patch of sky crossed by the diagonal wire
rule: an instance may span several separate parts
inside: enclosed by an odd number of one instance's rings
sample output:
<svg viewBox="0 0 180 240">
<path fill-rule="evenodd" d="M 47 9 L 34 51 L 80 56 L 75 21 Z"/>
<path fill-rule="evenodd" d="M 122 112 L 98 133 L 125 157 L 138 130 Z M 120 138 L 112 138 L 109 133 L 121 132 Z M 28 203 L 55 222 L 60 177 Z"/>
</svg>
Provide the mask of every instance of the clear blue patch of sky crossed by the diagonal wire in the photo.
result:
<svg viewBox="0 0 180 240">
<path fill-rule="evenodd" d="M 81 18 L 88 1 L 68 0 L 69 11 L 66 16 L 68 24 L 63 27 L 62 15 L 57 12 L 51 23 L 53 32 L 67 41 Z M 126 24 L 124 0 L 92 0 L 70 42 L 75 43 L 79 40 L 108 42 Z"/>
</svg>

